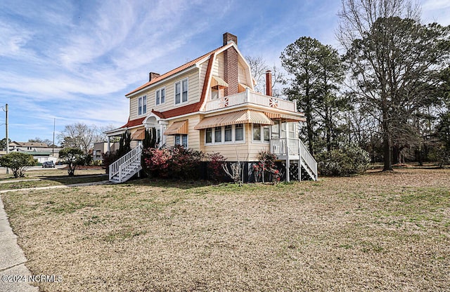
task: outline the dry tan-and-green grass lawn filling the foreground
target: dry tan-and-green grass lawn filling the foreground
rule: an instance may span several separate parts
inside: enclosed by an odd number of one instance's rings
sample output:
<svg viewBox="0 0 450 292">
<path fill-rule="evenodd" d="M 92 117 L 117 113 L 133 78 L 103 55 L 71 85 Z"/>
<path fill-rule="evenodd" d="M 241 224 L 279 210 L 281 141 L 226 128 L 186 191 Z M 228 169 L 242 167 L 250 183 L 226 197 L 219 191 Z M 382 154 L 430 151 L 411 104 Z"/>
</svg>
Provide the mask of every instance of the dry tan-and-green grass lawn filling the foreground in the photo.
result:
<svg viewBox="0 0 450 292">
<path fill-rule="evenodd" d="M 450 170 L 1 196 L 41 291 L 450 290 Z"/>
</svg>

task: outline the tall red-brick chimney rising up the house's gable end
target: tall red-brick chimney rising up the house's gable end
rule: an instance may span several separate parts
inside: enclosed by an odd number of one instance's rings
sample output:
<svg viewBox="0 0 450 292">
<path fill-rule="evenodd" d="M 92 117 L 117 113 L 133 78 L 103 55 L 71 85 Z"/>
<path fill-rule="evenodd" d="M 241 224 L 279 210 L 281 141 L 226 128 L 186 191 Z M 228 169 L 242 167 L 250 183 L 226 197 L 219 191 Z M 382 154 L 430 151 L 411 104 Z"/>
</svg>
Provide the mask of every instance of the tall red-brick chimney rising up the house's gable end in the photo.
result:
<svg viewBox="0 0 450 292">
<path fill-rule="evenodd" d="M 229 44 L 230 41 L 238 44 L 238 36 L 229 32 L 224 33 L 223 40 L 224 46 Z M 224 90 L 225 96 L 238 93 L 238 51 L 233 47 L 224 51 L 224 79 L 229 85 Z"/>
</svg>

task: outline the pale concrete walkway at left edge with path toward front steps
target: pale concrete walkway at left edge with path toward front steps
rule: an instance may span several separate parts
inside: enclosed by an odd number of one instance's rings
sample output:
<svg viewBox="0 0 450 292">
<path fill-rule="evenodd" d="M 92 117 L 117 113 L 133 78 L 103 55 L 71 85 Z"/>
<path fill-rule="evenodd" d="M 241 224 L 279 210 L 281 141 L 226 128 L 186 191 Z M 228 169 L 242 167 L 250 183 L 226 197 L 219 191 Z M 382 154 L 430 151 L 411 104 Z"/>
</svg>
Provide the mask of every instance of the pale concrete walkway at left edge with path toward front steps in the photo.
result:
<svg viewBox="0 0 450 292">
<path fill-rule="evenodd" d="M 93 183 L 76 183 L 72 185 L 52 185 L 49 187 L 30 187 L 26 189 L 2 190 L 4 192 L 19 192 L 25 190 L 48 190 L 63 187 L 79 187 L 85 185 L 104 185 L 110 183 L 108 180 Z M 0 291 L 1 292 L 28 292 L 39 291 L 39 288 L 31 286 L 26 281 L 11 281 L 15 278 L 8 275 L 26 277 L 32 275 L 25 266 L 27 258 L 22 248 L 17 244 L 17 236 L 13 233 L 6 215 L 3 201 L 0 197 Z"/>
</svg>

